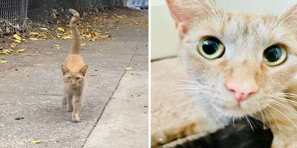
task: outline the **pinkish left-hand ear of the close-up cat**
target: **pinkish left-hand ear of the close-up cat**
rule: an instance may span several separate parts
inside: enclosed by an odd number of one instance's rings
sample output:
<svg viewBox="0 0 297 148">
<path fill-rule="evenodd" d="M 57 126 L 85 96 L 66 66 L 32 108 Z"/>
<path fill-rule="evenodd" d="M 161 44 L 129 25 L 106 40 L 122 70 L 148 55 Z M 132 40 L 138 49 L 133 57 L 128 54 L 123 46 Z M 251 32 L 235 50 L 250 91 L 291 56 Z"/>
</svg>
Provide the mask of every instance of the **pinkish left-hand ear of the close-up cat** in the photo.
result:
<svg viewBox="0 0 297 148">
<path fill-rule="evenodd" d="M 211 13 L 211 7 L 206 0 L 166 0 L 166 2 L 180 34 L 187 33 L 189 22 L 194 17 Z"/>
</svg>

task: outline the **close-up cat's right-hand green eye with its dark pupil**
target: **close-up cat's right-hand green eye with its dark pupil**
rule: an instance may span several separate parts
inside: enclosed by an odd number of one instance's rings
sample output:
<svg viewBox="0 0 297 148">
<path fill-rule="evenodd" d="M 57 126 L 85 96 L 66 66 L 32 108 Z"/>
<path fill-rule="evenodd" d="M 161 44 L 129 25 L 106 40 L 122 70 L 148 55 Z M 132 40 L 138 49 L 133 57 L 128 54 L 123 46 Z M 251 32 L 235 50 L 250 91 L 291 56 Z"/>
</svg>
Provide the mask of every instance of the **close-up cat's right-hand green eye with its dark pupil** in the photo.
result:
<svg viewBox="0 0 297 148">
<path fill-rule="evenodd" d="M 286 60 L 287 50 L 282 45 L 272 45 L 264 50 L 263 58 L 267 65 L 277 66 Z"/>
</svg>

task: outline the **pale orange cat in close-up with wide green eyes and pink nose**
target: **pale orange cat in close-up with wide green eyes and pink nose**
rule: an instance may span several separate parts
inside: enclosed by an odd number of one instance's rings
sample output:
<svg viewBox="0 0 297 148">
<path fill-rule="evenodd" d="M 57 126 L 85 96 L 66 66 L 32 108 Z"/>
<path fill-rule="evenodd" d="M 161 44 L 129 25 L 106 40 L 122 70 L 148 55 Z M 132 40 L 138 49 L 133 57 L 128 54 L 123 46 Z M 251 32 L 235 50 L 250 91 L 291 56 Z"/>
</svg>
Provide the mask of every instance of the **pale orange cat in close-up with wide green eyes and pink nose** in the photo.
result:
<svg viewBox="0 0 297 148">
<path fill-rule="evenodd" d="M 234 118 L 249 122 L 249 115 L 271 128 L 272 148 L 296 148 L 297 4 L 275 16 L 217 10 L 206 0 L 166 1 L 192 77 L 184 89 L 202 98 L 207 119 L 154 132 L 151 147 L 222 128 Z"/>
</svg>

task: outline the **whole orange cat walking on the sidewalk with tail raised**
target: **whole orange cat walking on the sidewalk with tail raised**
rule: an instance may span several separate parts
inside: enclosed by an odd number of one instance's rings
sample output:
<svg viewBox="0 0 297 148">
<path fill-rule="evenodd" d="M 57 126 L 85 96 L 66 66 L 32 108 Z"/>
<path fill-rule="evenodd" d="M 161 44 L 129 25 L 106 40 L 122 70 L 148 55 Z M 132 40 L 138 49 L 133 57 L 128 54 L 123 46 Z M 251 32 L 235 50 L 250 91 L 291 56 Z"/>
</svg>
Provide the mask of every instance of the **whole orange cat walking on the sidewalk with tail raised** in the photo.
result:
<svg viewBox="0 0 297 148">
<path fill-rule="evenodd" d="M 80 22 L 81 18 L 77 11 L 73 9 L 69 9 L 69 11 L 73 14 L 70 20 L 73 42 L 70 54 L 65 59 L 64 65 L 61 66 L 64 84 L 62 105 L 68 104 L 67 111 L 73 111 L 72 121 L 80 122 L 79 113 L 83 104 L 83 94 L 89 79 L 89 72 L 83 57 L 79 55 L 81 39 L 76 23 Z"/>
</svg>

